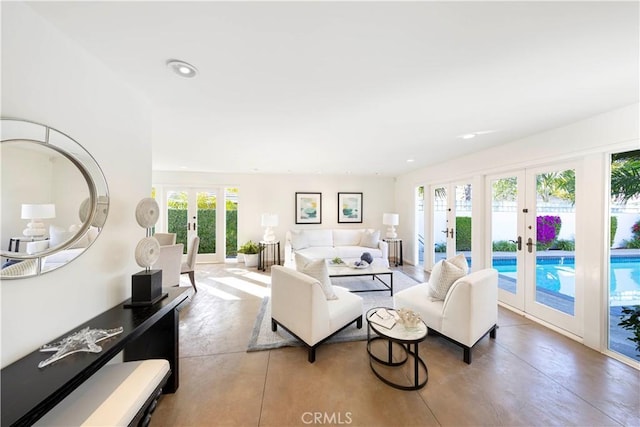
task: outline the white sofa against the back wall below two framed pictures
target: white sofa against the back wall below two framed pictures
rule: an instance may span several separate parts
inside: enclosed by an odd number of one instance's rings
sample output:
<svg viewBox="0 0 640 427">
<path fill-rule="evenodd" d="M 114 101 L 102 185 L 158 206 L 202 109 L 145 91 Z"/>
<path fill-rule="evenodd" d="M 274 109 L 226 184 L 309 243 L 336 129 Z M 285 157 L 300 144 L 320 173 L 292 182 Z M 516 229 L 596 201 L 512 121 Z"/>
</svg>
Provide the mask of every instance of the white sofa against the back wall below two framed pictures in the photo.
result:
<svg viewBox="0 0 640 427">
<path fill-rule="evenodd" d="M 309 259 L 341 258 L 357 261 L 369 252 L 376 263 L 389 266 L 389 245 L 378 230 L 336 228 L 297 229 L 287 231 L 284 245 L 285 265 L 295 268 L 295 254 Z"/>
</svg>

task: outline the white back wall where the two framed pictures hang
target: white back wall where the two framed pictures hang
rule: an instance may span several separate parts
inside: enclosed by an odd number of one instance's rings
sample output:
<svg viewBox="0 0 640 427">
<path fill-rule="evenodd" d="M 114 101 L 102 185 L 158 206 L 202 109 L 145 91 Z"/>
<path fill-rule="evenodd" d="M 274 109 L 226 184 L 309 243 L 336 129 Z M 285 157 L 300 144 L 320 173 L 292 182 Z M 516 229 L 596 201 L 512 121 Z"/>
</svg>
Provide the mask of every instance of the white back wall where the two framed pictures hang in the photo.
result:
<svg viewBox="0 0 640 427">
<path fill-rule="evenodd" d="M 379 176 L 153 172 L 153 184 L 160 192 L 175 185 L 238 187 L 238 242 L 261 240 L 261 215 L 277 213 L 279 224 L 274 232 L 281 250 L 285 233 L 291 228 L 384 229 L 382 214 L 394 207 L 394 182 L 394 178 Z M 295 223 L 296 192 L 322 193 L 322 224 Z M 362 224 L 338 224 L 338 192 L 363 193 Z"/>
</svg>

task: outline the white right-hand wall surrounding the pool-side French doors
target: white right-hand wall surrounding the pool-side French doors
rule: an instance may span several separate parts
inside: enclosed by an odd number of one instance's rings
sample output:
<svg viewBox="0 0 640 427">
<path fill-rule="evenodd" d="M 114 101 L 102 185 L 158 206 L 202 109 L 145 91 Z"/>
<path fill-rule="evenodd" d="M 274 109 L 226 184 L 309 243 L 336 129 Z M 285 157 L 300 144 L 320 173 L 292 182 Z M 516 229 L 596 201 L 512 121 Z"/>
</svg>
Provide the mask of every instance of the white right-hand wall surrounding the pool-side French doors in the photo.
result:
<svg viewBox="0 0 640 427">
<path fill-rule="evenodd" d="M 638 149 L 640 147 L 640 104 L 630 105 L 608 113 L 579 121 L 561 128 L 549 130 L 512 143 L 484 150 L 472 156 L 461 157 L 433 167 L 398 177 L 396 182 L 396 206 L 401 217 L 415 221 L 415 188 L 424 185 L 472 179 L 474 182 L 474 259 L 490 261 L 487 245 L 476 249 L 476 242 L 483 236 L 476 235 L 485 229 L 483 218 L 476 218 L 475 207 L 487 206 L 486 194 L 476 192 L 476 184 L 484 182 L 486 174 L 536 167 L 561 160 L 577 162 L 576 198 L 581 204 L 576 213 L 576 259 L 582 262 L 576 268 L 576 283 L 582 284 L 584 304 L 576 307 L 576 313 L 585 313 L 579 334 L 586 345 L 604 350 L 606 343 L 607 306 L 607 251 L 608 223 L 606 206 L 609 200 L 606 188 L 608 153 Z M 428 194 L 428 193 L 427 193 Z M 428 212 L 425 200 L 425 212 Z M 425 215 L 429 221 L 429 215 Z M 426 225 L 426 233 L 431 227 Z M 405 254 L 410 260 L 417 258 L 413 235 L 405 236 Z M 588 314 L 588 315 L 587 315 Z"/>
</svg>

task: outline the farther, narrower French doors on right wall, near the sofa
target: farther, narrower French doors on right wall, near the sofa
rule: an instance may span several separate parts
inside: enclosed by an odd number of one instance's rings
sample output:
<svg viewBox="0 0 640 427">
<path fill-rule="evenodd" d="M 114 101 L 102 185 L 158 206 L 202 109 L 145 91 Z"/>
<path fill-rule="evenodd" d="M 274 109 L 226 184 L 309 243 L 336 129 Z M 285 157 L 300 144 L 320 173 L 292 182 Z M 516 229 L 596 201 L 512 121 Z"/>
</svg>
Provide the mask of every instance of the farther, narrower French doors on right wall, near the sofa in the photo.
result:
<svg viewBox="0 0 640 427">
<path fill-rule="evenodd" d="M 471 183 L 431 186 L 431 262 L 463 252 L 471 266 Z"/>
</svg>

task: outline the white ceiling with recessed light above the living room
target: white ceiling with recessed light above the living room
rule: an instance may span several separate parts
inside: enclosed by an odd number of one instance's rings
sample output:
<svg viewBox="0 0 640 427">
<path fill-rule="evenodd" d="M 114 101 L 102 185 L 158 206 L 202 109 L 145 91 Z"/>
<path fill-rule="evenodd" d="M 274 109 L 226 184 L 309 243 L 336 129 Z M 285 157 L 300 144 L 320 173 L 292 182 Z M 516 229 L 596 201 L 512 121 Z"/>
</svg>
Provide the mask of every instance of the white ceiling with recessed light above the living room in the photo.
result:
<svg viewBox="0 0 640 427">
<path fill-rule="evenodd" d="M 154 170 L 397 176 L 639 101 L 638 2 L 29 4 L 149 99 Z"/>
</svg>

